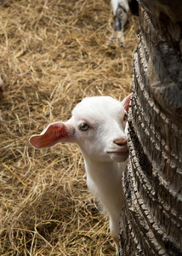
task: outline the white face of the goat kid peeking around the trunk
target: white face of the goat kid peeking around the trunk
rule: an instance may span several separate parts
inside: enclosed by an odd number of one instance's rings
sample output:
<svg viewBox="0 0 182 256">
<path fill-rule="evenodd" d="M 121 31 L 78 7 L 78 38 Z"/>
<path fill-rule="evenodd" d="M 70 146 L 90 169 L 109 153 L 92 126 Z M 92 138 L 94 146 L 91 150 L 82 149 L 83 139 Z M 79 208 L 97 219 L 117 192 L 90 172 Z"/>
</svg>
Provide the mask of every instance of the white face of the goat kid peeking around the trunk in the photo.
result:
<svg viewBox="0 0 182 256">
<path fill-rule="evenodd" d="M 85 98 L 73 109 L 71 122 L 84 157 L 122 162 L 128 158 L 125 133 L 128 113 L 110 96 Z"/>
</svg>

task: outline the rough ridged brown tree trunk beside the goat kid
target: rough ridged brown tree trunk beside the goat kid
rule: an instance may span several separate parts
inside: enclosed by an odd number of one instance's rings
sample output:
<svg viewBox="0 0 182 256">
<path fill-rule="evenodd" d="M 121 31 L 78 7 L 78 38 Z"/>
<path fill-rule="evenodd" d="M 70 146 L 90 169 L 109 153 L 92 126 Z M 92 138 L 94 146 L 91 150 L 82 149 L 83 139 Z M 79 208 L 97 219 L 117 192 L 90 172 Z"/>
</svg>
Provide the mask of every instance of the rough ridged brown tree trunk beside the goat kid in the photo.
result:
<svg viewBox="0 0 182 256">
<path fill-rule="evenodd" d="M 182 2 L 139 1 L 119 255 L 182 255 Z"/>
</svg>

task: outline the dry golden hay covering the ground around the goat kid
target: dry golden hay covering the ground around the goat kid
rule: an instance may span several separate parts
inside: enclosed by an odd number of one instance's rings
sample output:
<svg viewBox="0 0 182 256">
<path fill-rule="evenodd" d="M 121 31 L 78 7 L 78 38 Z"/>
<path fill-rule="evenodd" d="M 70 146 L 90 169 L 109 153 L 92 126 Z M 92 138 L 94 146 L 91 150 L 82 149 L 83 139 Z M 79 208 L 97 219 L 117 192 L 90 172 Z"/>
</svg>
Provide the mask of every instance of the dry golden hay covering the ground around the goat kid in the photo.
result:
<svg viewBox="0 0 182 256">
<path fill-rule="evenodd" d="M 138 20 L 124 48 L 108 47 L 109 0 L 1 3 L 0 254 L 114 255 L 77 146 L 38 151 L 28 138 L 85 96 L 128 95 Z"/>
</svg>

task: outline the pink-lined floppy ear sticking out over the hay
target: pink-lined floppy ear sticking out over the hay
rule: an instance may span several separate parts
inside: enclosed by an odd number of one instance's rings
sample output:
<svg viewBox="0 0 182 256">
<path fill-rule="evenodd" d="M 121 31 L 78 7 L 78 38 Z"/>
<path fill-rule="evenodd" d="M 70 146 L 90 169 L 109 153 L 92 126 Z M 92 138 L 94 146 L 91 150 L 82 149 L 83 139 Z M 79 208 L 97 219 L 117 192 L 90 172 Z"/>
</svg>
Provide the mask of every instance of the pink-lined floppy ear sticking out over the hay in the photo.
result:
<svg viewBox="0 0 182 256">
<path fill-rule="evenodd" d="M 56 122 L 48 125 L 40 135 L 33 135 L 29 143 L 34 148 L 48 148 L 60 142 L 72 142 L 74 129 L 71 124 Z"/>
</svg>

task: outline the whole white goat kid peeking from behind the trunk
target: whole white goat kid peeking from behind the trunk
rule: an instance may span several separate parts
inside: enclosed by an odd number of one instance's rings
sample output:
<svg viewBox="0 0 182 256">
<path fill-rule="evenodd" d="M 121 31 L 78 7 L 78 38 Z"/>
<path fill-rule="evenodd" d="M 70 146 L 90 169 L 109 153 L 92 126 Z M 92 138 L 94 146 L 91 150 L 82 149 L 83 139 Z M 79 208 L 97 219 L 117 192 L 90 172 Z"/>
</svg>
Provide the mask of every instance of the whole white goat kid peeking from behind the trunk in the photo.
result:
<svg viewBox="0 0 182 256">
<path fill-rule="evenodd" d="M 88 97 L 78 103 L 71 119 L 56 122 L 30 138 L 34 148 L 77 143 L 84 158 L 88 188 L 109 215 L 118 252 L 119 218 L 123 204 L 122 171 L 128 158 L 126 124 L 131 94 L 122 102 L 110 96 Z"/>
</svg>

